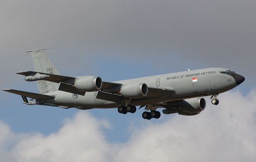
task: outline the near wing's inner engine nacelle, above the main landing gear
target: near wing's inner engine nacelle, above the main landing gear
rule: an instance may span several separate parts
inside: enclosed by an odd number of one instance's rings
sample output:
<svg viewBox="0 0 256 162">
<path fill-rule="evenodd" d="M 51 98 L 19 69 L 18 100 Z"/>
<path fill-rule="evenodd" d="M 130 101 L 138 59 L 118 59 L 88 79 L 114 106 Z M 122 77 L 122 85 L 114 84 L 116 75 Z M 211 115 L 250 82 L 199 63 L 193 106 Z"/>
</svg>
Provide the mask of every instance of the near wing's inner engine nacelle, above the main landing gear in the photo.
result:
<svg viewBox="0 0 256 162">
<path fill-rule="evenodd" d="M 121 87 L 121 95 L 129 99 L 139 99 L 148 94 L 148 86 L 145 83 L 127 84 Z"/>
</svg>

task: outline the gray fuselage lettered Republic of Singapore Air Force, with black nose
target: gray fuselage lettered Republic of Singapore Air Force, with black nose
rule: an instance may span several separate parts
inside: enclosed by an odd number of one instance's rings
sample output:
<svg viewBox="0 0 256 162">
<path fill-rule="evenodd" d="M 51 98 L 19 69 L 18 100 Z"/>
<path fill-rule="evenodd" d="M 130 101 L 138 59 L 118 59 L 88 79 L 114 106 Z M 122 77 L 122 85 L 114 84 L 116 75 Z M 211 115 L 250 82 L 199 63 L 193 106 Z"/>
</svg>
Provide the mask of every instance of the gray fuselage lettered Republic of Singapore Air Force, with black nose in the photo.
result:
<svg viewBox="0 0 256 162">
<path fill-rule="evenodd" d="M 138 106 L 148 103 L 164 103 L 171 100 L 219 94 L 236 87 L 244 81 L 243 76 L 238 75 L 235 72 L 232 72 L 231 74 L 226 73 L 231 73 L 231 71 L 222 68 L 207 68 L 114 82 L 123 85 L 146 83 L 148 87 L 161 87 L 175 90 L 175 93 L 168 96 L 163 95 L 152 98 L 149 96 L 145 99 L 132 99 L 130 101 L 131 105 Z M 55 96 L 53 100 L 47 100 L 47 103 L 67 106 L 67 108 L 76 107 L 79 109 L 89 109 L 114 108 L 119 106 L 118 103 L 112 101 L 97 99 L 96 96 L 98 92 L 87 92 L 84 96 L 63 91 L 45 94 Z"/>
</svg>

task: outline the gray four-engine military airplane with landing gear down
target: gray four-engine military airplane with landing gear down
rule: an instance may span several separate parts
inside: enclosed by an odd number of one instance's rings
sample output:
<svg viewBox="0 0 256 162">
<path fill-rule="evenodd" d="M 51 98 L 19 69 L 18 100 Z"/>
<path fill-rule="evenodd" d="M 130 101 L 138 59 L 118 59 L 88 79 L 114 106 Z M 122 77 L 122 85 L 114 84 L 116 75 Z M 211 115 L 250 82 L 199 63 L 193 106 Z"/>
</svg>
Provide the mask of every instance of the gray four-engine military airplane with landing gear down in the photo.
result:
<svg viewBox="0 0 256 162">
<path fill-rule="evenodd" d="M 52 47 L 50 47 L 52 48 Z M 39 93 L 2 89 L 22 97 L 27 105 L 93 108 L 117 108 L 121 114 L 135 113 L 145 107 L 142 118 L 160 118 L 163 114 L 178 113 L 192 116 L 206 107 L 203 96 L 211 96 L 218 105 L 217 96 L 241 84 L 245 78 L 223 68 L 188 70 L 123 81 L 106 82 L 99 76 L 72 77 L 60 75 L 45 50 L 29 50 L 34 71 L 21 71 L 25 81 L 37 81 Z M 30 98 L 28 100 L 27 98 Z"/>
</svg>

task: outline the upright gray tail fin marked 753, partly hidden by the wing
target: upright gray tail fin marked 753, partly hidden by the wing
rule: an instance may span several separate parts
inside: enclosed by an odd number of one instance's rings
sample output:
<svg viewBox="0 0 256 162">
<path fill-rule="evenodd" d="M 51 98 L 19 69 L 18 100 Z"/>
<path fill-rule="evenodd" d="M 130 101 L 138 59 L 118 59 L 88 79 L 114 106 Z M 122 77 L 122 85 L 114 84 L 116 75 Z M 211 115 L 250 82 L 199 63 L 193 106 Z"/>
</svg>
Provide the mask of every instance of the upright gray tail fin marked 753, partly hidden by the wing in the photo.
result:
<svg viewBox="0 0 256 162">
<path fill-rule="evenodd" d="M 53 63 L 49 60 L 49 58 L 44 52 L 44 50 L 50 49 L 50 48 L 29 50 L 27 52 L 31 53 L 31 56 L 33 59 L 34 71 L 60 75 L 57 69 L 54 67 Z M 50 82 L 50 81 L 37 81 L 37 86 L 38 86 L 39 93 L 48 93 L 48 92 L 57 91 L 60 84 Z"/>
</svg>

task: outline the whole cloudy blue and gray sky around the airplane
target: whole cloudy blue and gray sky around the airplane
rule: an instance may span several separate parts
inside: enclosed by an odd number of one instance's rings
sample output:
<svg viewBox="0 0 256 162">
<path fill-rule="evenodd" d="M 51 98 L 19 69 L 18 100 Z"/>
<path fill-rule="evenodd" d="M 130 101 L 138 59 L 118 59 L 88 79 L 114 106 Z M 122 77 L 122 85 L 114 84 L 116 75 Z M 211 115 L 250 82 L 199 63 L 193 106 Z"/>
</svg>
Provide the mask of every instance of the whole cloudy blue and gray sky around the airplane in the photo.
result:
<svg viewBox="0 0 256 162">
<path fill-rule="evenodd" d="M 46 50 L 61 75 L 117 81 L 229 68 L 243 84 L 193 117 L 27 106 L 0 92 L 0 161 L 255 161 L 255 0 L 1 0 L 0 89 Z"/>
</svg>

